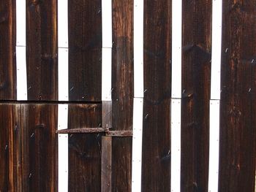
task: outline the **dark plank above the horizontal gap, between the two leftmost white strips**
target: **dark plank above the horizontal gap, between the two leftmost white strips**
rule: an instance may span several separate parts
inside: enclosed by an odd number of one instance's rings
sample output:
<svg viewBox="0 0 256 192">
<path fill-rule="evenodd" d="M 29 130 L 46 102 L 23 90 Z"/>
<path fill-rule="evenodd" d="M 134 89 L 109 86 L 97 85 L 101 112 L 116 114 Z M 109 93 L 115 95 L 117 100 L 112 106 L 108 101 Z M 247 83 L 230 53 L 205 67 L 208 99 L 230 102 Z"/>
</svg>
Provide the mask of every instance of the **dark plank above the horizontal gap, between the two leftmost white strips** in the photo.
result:
<svg viewBox="0 0 256 192">
<path fill-rule="evenodd" d="M 58 99 L 56 0 L 26 0 L 29 100 Z"/>
</svg>

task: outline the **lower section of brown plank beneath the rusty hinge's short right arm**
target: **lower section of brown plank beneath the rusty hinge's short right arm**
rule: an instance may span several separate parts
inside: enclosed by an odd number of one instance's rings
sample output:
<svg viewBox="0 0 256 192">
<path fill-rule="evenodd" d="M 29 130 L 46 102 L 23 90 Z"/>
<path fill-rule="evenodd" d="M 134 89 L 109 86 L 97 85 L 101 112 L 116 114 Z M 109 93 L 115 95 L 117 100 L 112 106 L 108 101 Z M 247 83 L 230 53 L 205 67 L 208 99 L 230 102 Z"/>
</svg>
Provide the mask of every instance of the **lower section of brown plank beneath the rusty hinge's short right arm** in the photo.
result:
<svg viewBox="0 0 256 192">
<path fill-rule="evenodd" d="M 112 137 L 112 191 L 132 191 L 132 137 Z"/>
</svg>

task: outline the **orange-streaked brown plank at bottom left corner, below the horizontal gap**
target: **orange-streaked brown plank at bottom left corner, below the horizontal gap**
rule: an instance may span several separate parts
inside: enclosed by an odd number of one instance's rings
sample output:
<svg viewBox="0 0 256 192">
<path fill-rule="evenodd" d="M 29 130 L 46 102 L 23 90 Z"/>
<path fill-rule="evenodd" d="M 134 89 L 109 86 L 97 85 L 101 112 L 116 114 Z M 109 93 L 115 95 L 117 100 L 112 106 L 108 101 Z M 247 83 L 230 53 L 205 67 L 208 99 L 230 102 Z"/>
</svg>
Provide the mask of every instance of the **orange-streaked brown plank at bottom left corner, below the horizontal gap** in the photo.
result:
<svg viewBox="0 0 256 192">
<path fill-rule="evenodd" d="M 21 191 L 20 105 L 0 104 L 0 191 Z"/>
</svg>

